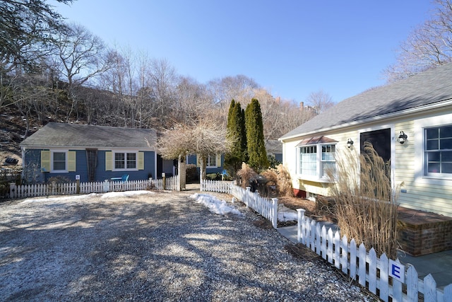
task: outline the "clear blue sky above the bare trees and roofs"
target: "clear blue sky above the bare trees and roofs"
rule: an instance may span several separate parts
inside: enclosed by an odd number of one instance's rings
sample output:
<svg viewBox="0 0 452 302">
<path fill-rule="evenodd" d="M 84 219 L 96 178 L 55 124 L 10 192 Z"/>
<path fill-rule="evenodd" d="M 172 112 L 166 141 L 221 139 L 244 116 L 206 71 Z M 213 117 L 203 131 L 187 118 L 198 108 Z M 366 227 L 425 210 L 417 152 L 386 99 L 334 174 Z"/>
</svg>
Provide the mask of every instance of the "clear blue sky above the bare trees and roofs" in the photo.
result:
<svg viewBox="0 0 452 302">
<path fill-rule="evenodd" d="M 54 4 L 108 45 L 167 59 L 200 83 L 244 74 L 273 96 L 335 102 L 383 85 L 429 0 L 77 0 Z"/>
</svg>

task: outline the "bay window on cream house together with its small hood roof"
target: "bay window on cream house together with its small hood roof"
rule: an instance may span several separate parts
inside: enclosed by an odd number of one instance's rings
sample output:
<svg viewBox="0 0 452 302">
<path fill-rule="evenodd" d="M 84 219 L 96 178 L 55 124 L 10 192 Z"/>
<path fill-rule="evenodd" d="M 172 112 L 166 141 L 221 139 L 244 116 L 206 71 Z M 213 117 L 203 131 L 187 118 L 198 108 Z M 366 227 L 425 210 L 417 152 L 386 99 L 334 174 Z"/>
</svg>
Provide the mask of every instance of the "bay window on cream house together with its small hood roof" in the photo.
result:
<svg viewBox="0 0 452 302">
<path fill-rule="evenodd" d="M 335 171 L 335 144 L 326 137 L 302 141 L 298 145 L 297 172 L 309 179 L 326 179 L 327 171 Z M 326 144 L 329 143 L 329 144 Z"/>
</svg>

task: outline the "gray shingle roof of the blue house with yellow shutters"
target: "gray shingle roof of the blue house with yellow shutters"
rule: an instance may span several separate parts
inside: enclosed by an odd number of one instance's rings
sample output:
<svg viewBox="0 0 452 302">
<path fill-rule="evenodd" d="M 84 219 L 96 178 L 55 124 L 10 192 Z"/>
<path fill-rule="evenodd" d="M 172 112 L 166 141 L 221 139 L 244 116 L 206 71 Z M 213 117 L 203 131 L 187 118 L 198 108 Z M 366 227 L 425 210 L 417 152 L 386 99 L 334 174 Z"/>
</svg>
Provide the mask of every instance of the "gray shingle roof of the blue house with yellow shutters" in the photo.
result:
<svg viewBox="0 0 452 302">
<path fill-rule="evenodd" d="M 156 137 L 154 129 L 49 122 L 22 141 L 20 146 L 149 149 L 145 139 L 154 146 Z"/>
</svg>

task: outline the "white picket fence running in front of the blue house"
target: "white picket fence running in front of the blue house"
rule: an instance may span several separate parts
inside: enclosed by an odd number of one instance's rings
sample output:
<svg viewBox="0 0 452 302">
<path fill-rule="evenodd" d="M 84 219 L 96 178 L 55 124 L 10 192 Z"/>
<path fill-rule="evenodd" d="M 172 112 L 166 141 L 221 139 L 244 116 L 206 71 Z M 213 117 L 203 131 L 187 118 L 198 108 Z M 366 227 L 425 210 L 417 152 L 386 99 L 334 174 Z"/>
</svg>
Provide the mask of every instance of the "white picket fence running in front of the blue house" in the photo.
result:
<svg viewBox="0 0 452 302">
<path fill-rule="evenodd" d="M 105 181 L 105 182 L 76 182 L 70 183 L 51 183 L 37 185 L 16 185 L 11 182 L 9 184 L 10 198 L 39 197 L 49 195 L 69 195 L 69 194 L 88 194 L 103 192 L 119 192 L 119 191 L 137 191 L 137 190 L 171 190 L 179 191 L 179 177 L 165 179 L 165 189 L 163 189 L 163 179 L 148 180 L 128 180 L 122 181 Z"/>
</svg>

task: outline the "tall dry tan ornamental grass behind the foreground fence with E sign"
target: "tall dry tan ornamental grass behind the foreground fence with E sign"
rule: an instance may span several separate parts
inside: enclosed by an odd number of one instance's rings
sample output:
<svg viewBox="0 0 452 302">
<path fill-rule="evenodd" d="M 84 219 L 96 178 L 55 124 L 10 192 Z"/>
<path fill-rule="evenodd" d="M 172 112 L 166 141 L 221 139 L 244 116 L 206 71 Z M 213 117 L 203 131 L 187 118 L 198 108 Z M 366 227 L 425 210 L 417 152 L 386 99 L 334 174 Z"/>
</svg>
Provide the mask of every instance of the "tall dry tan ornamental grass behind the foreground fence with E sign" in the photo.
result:
<svg viewBox="0 0 452 302">
<path fill-rule="evenodd" d="M 352 153 L 343 158 L 328 171 L 341 236 L 396 259 L 398 187 L 391 187 L 390 168 L 370 143 L 364 143 L 359 162 Z"/>
</svg>

